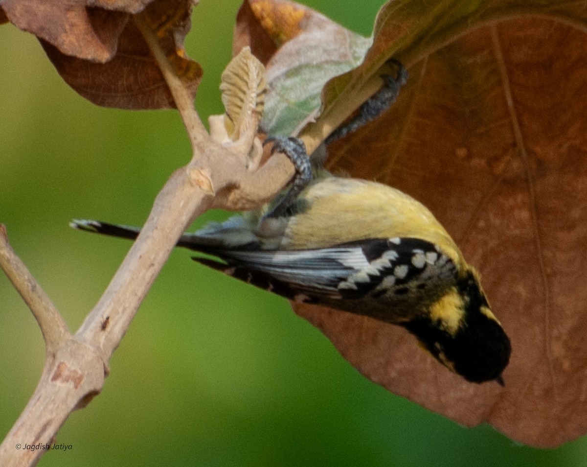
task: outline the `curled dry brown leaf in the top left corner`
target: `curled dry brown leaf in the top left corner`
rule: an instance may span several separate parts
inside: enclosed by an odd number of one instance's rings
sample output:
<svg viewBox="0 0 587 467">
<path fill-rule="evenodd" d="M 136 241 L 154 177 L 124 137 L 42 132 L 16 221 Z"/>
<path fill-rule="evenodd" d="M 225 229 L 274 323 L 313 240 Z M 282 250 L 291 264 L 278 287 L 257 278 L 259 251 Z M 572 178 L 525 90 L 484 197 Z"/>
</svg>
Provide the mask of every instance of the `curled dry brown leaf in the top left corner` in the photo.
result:
<svg viewBox="0 0 587 467">
<path fill-rule="evenodd" d="M 7 0 L 2 6 L 11 22 L 38 36 L 62 78 L 91 102 L 122 109 L 174 107 L 132 21 L 132 14 L 144 8 L 171 65 L 195 96 L 202 69 L 183 49 L 191 0 Z"/>
</svg>

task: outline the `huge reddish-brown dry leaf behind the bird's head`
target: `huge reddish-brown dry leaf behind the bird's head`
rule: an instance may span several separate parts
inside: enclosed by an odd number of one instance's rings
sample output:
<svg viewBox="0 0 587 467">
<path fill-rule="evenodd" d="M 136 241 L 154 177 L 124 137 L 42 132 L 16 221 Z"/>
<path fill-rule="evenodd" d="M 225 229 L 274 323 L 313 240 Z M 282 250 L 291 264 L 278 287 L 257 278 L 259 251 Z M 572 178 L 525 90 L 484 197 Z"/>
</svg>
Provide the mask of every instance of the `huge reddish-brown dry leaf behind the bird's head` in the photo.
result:
<svg viewBox="0 0 587 467">
<path fill-rule="evenodd" d="M 329 118 L 390 56 L 408 66 L 398 102 L 332 145 L 330 168 L 410 193 L 454 236 L 511 337 L 505 388 L 467 383 L 402 328 L 295 307 L 390 391 L 534 446 L 587 431 L 586 15 L 572 2 L 389 2 L 365 64 L 325 91 Z"/>
</svg>

